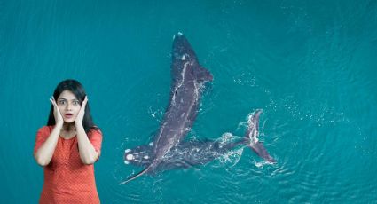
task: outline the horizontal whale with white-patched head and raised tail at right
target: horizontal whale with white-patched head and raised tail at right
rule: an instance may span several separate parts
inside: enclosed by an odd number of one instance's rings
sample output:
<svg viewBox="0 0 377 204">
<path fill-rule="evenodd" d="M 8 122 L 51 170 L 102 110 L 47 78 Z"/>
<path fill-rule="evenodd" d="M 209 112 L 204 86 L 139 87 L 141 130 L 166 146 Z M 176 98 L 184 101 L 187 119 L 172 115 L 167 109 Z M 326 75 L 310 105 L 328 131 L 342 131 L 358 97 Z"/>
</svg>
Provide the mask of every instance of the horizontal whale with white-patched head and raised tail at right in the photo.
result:
<svg viewBox="0 0 377 204">
<path fill-rule="evenodd" d="M 154 174 L 169 169 L 187 169 L 205 165 L 239 146 L 242 148 L 248 146 L 264 161 L 275 163 L 276 160 L 271 157 L 263 143 L 258 139 L 259 121 L 262 113 L 262 109 L 257 109 L 255 113 L 247 116 L 247 130 L 242 138 L 236 138 L 229 142 L 224 142 L 222 139 L 182 141 L 165 155 L 158 168 L 149 173 Z M 153 162 L 153 147 L 151 145 L 139 145 L 133 149 L 126 149 L 123 159 L 125 164 L 145 168 Z"/>
</svg>

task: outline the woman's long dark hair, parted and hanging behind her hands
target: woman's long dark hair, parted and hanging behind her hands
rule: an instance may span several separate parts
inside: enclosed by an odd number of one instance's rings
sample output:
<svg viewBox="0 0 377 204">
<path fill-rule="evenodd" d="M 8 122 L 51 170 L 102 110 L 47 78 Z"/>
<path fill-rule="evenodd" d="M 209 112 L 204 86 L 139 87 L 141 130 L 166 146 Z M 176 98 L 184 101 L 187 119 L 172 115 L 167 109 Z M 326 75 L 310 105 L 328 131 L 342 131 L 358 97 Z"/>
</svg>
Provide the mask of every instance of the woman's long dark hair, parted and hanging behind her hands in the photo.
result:
<svg viewBox="0 0 377 204">
<path fill-rule="evenodd" d="M 58 86 L 54 90 L 53 98 L 55 98 L 55 101 L 58 101 L 60 94 L 64 90 L 71 91 L 75 95 L 75 97 L 79 100 L 80 105 L 82 105 L 82 101 L 85 98 L 86 93 L 80 82 L 77 82 L 76 80 L 73 80 L 73 79 L 67 79 L 63 82 L 59 82 Z M 54 107 L 51 105 L 49 121 L 47 122 L 48 126 L 53 126 L 56 123 L 53 111 L 54 111 Z M 88 133 L 90 129 L 98 129 L 98 127 L 94 124 L 93 120 L 91 119 L 89 102 L 86 104 L 86 107 L 85 107 L 85 114 L 83 115 L 82 126 L 83 126 L 83 129 L 85 129 L 86 133 Z"/>
</svg>

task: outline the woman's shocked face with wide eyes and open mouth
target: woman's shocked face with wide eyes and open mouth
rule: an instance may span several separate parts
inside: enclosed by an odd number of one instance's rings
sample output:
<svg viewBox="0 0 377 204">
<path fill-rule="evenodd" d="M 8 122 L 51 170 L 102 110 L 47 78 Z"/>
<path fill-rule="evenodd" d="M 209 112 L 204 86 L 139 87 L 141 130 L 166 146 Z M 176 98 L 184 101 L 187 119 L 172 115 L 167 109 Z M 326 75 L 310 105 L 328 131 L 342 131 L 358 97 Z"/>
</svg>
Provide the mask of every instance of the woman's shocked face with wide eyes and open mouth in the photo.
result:
<svg viewBox="0 0 377 204">
<path fill-rule="evenodd" d="M 69 90 L 64 90 L 61 92 L 57 104 L 64 122 L 75 122 L 76 116 L 81 108 L 80 101 L 75 95 Z"/>
</svg>

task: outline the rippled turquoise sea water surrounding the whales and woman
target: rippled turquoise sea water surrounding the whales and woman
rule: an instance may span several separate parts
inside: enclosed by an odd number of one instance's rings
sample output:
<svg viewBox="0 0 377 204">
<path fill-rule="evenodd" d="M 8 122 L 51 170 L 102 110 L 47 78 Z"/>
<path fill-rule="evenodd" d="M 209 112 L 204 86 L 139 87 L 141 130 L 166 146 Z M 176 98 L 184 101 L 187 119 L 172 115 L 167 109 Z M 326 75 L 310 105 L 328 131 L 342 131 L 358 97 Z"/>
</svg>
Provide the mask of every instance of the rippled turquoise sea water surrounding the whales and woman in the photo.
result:
<svg viewBox="0 0 377 204">
<path fill-rule="evenodd" d="M 102 203 L 373 203 L 377 200 L 377 1 L 0 1 L 0 193 L 37 203 L 33 159 L 55 86 L 85 86 L 104 132 Z M 214 75 L 188 137 L 242 136 L 263 108 L 264 145 L 195 169 L 122 179 L 169 100 L 172 36 Z M 374 54 L 373 54 L 374 53 Z"/>
</svg>

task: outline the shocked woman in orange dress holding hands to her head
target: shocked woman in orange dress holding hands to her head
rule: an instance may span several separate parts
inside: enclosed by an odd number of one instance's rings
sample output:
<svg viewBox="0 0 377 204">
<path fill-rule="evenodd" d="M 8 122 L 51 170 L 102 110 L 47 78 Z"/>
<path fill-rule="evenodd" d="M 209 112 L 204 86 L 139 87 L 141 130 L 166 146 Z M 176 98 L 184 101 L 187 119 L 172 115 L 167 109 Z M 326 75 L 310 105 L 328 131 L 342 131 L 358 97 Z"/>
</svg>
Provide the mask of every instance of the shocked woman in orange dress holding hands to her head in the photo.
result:
<svg viewBox="0 0 377 204">
<path fill-rule="evenodd" d="M 47 126 L 38 130 L 35 161 L 43 166 L 39 203 L 99 203 L 93 163 L 98 161 L 102 133 L 94 125 L 80 82 L 60 82 L 50 98 Z"/>
</svg>

